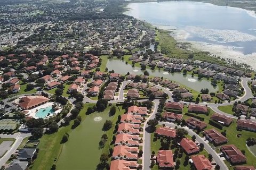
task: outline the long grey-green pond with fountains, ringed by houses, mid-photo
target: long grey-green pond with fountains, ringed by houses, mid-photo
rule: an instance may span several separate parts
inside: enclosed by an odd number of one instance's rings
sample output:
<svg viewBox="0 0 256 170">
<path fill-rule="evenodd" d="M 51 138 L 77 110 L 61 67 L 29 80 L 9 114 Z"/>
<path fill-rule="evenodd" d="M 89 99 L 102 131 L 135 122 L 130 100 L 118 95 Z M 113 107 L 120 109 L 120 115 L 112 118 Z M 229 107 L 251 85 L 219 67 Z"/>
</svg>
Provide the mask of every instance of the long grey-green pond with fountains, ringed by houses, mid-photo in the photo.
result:
<svg viewBox="0 0 256 170">
<path fill-rule="evenodd" d="M 138 75 L 143 74 L 143 72 L 140 70 L 139 67 L 132 67 L 132 65 L 125 64 L 125 62 L 121 60 L 108 60 L 107 68 L 108 70 L 114 70 L 116 73 L 120 73 L 120 74 L 126 74 L 127 72 L 130 72 L 130 74 L 138 74 Z M 182 73 L 169 73 L 169 72 L 159 71 L 158 69 L 156 70 L 146 69 L 146 70 L 149 72 L 149 75 L 151 76 L 163 77 L 163 78 L 178 82 L 198 92 L 203 88 L 208 88 L 210 92 L 215 92 L 219 90 L 218 87 L 213 87 L 210 81 L 197 80 L 197 77 L 193 78 L 189 74 L 183 75 Z"/>
</svg>

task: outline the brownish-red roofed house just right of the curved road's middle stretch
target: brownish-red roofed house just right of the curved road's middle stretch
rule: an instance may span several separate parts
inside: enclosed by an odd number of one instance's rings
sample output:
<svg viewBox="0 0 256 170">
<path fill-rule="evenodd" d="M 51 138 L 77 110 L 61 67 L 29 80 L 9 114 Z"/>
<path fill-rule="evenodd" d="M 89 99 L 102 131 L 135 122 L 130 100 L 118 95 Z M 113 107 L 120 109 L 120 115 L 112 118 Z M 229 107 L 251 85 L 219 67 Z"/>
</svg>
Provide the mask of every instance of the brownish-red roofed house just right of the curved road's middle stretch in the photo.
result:
<svg viewBox="0 0 256 170">
<path fill-rule="evenodd" d="M 205 138 L 213 142 L 215 146 L 227 143 L 228 139 L 215 129 L 204 130 Z"/>
</svg>

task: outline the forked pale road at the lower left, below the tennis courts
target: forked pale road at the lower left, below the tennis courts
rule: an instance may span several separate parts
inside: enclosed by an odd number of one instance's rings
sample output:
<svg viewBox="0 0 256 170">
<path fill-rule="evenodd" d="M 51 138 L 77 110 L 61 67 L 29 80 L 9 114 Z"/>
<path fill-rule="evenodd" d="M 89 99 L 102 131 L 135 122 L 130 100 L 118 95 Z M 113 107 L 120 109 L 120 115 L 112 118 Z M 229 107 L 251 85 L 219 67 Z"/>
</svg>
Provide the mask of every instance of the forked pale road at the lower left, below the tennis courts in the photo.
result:
<svg viewBox="0 0 256 170">
<path fill-rule="evenodd" d="M 5 155 L 0 158 L 0 167 L 2 167 L 7 160 L 11 157 L 11 155 L 17 150 L 17 148 L 20 146 L 22 140 L 26 137 L 30 137 L 31 133 L 15 133 L 15 134 L 0 134 L 1 138 L 15 138 L 15 142 L 13 143 L 10 150 L 8 150 Z"/>
</svg>

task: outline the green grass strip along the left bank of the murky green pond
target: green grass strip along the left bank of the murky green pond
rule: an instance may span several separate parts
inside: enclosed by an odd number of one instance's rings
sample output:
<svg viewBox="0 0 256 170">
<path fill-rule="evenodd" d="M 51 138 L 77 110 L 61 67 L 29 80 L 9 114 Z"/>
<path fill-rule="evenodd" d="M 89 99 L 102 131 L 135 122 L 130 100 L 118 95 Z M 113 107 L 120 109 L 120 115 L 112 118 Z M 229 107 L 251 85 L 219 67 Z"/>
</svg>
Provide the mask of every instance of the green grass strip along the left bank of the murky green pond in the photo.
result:
<svg viewBox="0 0 256 170">
<path fill-rule="evenodd" d="M 84 108 L 80 112 L 82 119 L 86 117 L 85 112 L 87 108 L 93 105 L 94 104 L 85 104 Z M 43 135 L 38 145 L 39 154 L 30 169 L 51 169 L 51 166 L 55 163 L 55 158 L 57 159 L 61 153 L 63 145 L 60 144 L 60 141 L 63 134 L 66 132 L 69 133 L 73 124 L 74 121 L 71 121 L 69 126 L 60 128 L 57 133 Z"/>
</svg>

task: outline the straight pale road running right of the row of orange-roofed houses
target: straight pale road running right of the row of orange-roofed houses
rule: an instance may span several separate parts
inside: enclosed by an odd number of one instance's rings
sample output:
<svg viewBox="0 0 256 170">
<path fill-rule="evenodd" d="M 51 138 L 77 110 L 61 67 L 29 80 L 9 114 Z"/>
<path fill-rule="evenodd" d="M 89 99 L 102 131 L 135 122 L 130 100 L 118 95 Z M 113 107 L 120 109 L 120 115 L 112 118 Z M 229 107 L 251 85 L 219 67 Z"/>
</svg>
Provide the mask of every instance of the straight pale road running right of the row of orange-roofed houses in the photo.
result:
<svg viewBox="0 0 256 170">
<path fill-rule="evenodd" d="M 159 100 L 154 100 L 155 103 L 155 109 L 153 113 L 148 117 L 147 121 L 145 122 L 145 125 L 143 127 L 143 137 L 144 137 L 144 143 L 143 143 L 143 169 L 150 169 L 150 133 L 146 131 L 146 129 L 149 129 L 149 126 L 147 125 L 147 122 L 149 120 L 152 120 L 156 117 L 157 108 L 159 105 Z"/>
</svg>

